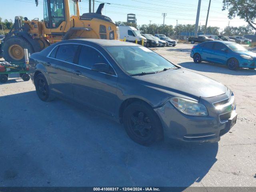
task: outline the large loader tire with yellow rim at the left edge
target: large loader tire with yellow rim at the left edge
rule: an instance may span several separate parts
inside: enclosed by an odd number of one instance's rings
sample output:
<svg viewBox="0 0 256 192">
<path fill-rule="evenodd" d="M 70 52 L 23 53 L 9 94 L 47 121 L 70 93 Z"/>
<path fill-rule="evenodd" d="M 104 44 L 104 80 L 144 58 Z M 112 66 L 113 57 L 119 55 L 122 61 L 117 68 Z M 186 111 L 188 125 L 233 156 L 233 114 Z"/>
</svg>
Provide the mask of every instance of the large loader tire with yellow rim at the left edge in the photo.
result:
<svg viewBox="0 0 256 192">
<path fill-rule="evenodd" d="M 30 54 L 34 53 L 32 45 L 22 37 L 11 37 L 3 43 L 4 60 L 18 63 L 24 62 L 24 49 L 28 49 Z"/>
</svg>

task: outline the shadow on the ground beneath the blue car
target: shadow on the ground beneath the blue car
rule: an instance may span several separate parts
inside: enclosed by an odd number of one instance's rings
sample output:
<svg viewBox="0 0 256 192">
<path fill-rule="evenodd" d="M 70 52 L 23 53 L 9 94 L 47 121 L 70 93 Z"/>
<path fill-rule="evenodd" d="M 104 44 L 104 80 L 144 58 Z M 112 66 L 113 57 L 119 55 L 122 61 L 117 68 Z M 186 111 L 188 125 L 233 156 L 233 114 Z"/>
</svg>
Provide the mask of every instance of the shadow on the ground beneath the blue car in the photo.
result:
<svg viewBox="0 0 256 192">
<path fill-rule="evenodd" d="M 196 71 L 202 72 L 210 72 L 210 73 L 222 73 L 222 74 L 229 74 L 229 75 L 236 75 L 236 76 L 250 76 L 256 75 L 256 70 L 240 68 L 238 70 L 230 70 L 227 66 L 212 64 L 208 62 L 202 62 L 200 64 L 196 64 L 194 62 L 183 62 L 178 63 L 178 65 Z"/>
</svg>

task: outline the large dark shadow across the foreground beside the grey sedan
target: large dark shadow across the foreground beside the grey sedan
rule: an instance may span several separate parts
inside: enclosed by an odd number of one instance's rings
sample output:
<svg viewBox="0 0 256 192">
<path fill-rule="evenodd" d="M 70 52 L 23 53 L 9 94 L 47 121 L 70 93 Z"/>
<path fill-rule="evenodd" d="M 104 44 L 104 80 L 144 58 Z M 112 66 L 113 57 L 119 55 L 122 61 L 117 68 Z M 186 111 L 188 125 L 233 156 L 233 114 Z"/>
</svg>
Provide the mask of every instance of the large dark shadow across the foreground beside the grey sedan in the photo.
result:
<svg viewBox="0 0 256 192">
<path fill-rule="evenodd" d="M 0 106 L 1 186 L 190 186 L 216 162 L 218 143 L 140 146 L 106 116 L 35 91 Z"/>
</svg>

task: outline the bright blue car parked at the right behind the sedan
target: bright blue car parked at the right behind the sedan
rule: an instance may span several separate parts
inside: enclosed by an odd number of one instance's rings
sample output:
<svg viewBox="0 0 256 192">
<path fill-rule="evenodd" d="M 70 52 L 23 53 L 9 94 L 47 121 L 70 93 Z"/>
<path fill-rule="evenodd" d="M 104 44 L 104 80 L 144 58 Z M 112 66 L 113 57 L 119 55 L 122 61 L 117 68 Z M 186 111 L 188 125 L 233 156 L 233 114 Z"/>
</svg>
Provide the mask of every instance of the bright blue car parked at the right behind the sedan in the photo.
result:
<svg viewBox="0 0 256 192">
<path fill-rule="evenodd" d="M 192 47 L 190 57 L 195 63 L 202 61 L 227 65 L 230 70 L 256 68 L 256 53 L 229 41 L 208 41 Z"/>
</svg>

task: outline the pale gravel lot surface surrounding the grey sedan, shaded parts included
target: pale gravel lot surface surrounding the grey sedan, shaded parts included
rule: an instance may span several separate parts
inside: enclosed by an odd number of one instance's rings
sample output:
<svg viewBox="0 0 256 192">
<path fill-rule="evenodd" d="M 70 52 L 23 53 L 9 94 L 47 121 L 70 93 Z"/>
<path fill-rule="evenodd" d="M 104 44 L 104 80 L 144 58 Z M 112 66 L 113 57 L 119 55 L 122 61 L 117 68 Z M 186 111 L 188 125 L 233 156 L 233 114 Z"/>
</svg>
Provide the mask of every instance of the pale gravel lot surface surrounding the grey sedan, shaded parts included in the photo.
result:
<svg viewBox="0 0 256 192">
<path fill-rule="evenodd" d="M 194 64 L 191 47 L 154 50 L 234 92 L 238 121 L 220 142 L 140 146 L 106 116 L 42 102 L 31 81 L 10 78 L 0 84 L 0 186 L 256 186 L 256 70 Z"/>
</svg>

